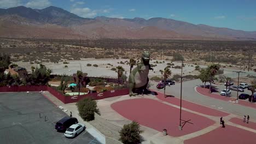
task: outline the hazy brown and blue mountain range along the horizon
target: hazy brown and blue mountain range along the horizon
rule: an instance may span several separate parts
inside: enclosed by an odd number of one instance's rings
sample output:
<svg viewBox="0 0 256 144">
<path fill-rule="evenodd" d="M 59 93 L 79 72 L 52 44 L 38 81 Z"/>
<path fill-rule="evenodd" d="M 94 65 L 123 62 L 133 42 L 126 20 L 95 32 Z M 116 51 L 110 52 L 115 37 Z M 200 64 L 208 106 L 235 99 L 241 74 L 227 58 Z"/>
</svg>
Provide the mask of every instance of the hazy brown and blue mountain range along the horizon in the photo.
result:
<svg viewBox="0 0 256 144">
<path fill-rule="evenodd" d="M 24 6 L 0 9 L 0 37 L 45 39 L 182 39 L 256 40 L 256 32 L 154 17 L 146 20 L 98 16 L 79 17 L 50 6 L 31 9 Z"/>
</svg>

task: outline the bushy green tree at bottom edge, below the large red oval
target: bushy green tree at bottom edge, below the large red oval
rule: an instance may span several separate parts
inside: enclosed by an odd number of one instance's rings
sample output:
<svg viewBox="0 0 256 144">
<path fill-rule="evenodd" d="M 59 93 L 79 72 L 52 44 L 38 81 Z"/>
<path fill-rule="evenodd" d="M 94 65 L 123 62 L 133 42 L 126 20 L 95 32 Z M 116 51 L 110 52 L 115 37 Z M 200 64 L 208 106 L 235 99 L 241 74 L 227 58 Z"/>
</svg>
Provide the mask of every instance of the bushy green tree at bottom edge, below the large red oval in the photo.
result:
<svg viewBox="0 0 256 144">
<path fill-rule="evenodd" d="M 119 131 L 120 141 L 124 144 L 138 144 L 143 141 L 141 134 L 144 131 L 140 129 L 137 122 L 133 121 L 130 124 L 125 124 Z"/>
</svg>

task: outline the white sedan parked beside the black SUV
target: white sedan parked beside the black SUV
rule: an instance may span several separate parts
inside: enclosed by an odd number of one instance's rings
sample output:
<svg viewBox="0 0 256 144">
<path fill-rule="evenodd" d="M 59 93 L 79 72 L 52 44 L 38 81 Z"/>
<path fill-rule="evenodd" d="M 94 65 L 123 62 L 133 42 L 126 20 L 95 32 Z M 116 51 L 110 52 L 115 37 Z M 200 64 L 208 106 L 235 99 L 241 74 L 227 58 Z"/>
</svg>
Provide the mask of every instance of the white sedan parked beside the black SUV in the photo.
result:
<svg viewBox="0 0 256 144">
<path fill-rule="evenodd" d="M 77 137 L 85 130 L 84 124 L 73 124 L 64 133 L 66 137 Z"/>
</svg>

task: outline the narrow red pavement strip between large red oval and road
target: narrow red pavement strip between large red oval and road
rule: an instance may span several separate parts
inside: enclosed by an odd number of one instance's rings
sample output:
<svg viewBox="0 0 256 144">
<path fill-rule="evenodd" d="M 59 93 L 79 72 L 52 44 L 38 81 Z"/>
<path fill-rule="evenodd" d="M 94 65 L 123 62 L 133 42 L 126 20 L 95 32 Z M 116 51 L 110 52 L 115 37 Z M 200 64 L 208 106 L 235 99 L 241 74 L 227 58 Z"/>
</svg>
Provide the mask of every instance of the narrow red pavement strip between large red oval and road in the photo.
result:
<svg viewBox="0 0 256 144">
<path fill-rule="evenodd" d="M 181 99 L 178 99 L 175 97 L 166 97 L 165 98 L 164 94 L 162 94 L 160 92 L 157 92 L 157 93 L 158 93 L 158 95 L 156 95 L 156 97 L 158 99 L 166 101 L 167 103 L 179 106 Z M 198 105 L 195 103 L 191 103 L 187 100 L 182 100 L 182 107 L 192 110 L 192 111 L 203 113 L 205 115 L 210 115 L 210 116 L 225 117 L 225 116 L 229 115 L 229 113 L 214 110 L 214 109 L 211 109 L 210 107 Z"/>
</svg>

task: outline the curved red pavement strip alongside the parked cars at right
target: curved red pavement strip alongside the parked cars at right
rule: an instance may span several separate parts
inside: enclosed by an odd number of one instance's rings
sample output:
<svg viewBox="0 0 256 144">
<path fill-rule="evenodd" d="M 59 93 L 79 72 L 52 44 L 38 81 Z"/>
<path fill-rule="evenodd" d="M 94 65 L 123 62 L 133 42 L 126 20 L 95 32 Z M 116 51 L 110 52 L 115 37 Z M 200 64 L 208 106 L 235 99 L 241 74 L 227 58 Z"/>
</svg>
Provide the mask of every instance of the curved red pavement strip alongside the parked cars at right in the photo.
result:
<svg viewBox="0 0 256 144">
<path fill-rule="evenodd" d="M 214 99 L 219 99 L 219 100 L 224 100 L 224 101 L 229 101 L 229 100 L 234 99 L 234 98 L 225 97 L 223 95 L 219 95 L 219 94 L 215 94 L 215 93 L 209 93 L 209 89 L 207 89 L 207 88 L 196 87 L 196 91 L 201 93 L 202 95 L 205 95 L 207 97 L 214 98 Z M 236 103 L 234 103 L 234 104 L 236 104 Z M 255 103 L 250 103 L 249 101 L 246 101 L 246 100 L 238 100 L 238 105 L 252 107 L 252 108 L 256 109 Z"/>
</svg>

